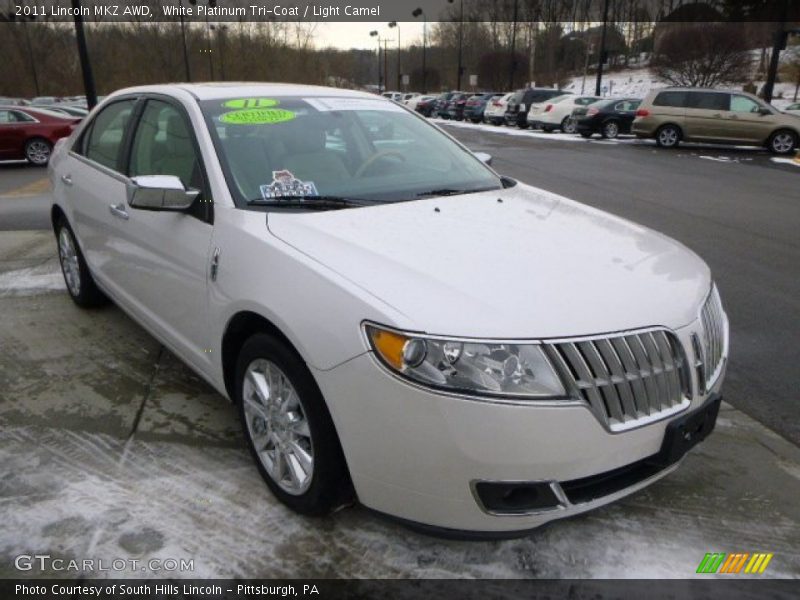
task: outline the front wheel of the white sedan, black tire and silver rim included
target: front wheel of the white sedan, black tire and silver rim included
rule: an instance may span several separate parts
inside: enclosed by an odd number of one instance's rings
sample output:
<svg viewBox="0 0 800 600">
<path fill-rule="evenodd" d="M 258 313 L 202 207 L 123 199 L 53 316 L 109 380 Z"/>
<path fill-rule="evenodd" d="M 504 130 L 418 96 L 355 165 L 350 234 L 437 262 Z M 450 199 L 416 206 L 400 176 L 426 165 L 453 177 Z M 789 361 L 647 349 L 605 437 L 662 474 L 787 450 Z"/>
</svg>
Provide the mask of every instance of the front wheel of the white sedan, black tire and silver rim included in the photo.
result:
<svg viewBox="0 0 800 600">
<path fill-rule="evenodd" d="M 333 420 L 291 347 L 265 333 L 248 339 L 236 362 L 236 402 L 250 453 L 278 500 L 304 515 L 352 502 Z"/>
</svg>

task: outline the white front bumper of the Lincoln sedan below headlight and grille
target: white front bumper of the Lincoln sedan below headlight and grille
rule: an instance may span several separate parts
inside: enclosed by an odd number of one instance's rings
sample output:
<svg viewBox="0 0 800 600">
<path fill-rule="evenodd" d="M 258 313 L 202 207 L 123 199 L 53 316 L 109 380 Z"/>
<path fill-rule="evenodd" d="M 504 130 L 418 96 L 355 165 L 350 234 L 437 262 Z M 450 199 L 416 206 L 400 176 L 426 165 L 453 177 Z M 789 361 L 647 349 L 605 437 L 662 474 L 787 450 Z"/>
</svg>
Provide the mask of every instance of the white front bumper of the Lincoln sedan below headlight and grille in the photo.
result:
<svg viewBox="0 0 800 600">
<path fill-rule="evenodd" d="M 497 535 L 602 506 L 671 472 L 680 456 L 659 458 L 670 423 L 718 402 L 723 379 L 673 416 L 612 433 L 585 405 L 445 395 L 401 380 L 371 353 L 314 375 L 362 504 L 437 529 Z M 611 476 L 618 485 L 602 488 Z M 558 503 L 498 514 L 482 506 L 478 482 L 544 482 Z M 570 491 L 582 485 L 588 495 Z"/>
</svg>

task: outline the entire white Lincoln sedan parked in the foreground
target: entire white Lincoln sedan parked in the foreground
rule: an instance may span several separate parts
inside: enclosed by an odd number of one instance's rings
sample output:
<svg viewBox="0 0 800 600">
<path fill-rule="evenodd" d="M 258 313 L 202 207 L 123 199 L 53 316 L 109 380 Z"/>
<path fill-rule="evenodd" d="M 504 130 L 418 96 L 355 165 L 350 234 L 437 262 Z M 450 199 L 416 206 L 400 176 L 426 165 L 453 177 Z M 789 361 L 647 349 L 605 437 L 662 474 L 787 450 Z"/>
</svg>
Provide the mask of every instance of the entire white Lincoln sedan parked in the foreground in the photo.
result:
<svg viewBox="0 0 800 600">
<path fill-rule="evenodd" d="M 511 534 L 673 470 L 728 322 L 690 250 L 488 162 L 365 93 L 138 87 L 57 145 L 52 221 L 73 300 L 230 398 L 283 503 Z"/>
</svg>

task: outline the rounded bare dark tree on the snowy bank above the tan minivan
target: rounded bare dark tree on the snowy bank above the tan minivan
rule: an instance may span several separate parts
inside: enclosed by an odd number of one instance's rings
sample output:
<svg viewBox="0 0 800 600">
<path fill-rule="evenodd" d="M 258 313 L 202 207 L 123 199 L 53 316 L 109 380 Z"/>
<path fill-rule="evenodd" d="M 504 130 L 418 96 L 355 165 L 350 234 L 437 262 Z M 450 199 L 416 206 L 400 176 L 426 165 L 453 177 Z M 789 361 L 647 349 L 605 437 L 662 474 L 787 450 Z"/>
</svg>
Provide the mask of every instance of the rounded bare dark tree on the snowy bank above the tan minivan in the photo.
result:
<svg viewBox="0 0 800 600">
<path fill-rule="evenodd" d="M 740 23 L 669 23 L 658 32 L 650 69 L 673 85 L 714 87 L 748 79 L 752 59 Z"/>
</svg>

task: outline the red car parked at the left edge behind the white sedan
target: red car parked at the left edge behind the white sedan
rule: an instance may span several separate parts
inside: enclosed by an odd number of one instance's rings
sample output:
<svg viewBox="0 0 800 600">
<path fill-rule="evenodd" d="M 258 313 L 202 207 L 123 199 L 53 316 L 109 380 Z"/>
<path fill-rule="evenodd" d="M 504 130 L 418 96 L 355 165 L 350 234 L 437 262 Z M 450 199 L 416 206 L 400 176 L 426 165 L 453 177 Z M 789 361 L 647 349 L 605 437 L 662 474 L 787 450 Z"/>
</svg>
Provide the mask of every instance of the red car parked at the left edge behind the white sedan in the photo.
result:
<svg viewBox="0 0 800 600">
<path fill-rule="evenodd" d="M 80 122 L 46 109 L 0 106 L 0 160 L 25 158 L 44 166 L 56 142 L 71 134 Z"/>
</svg>

